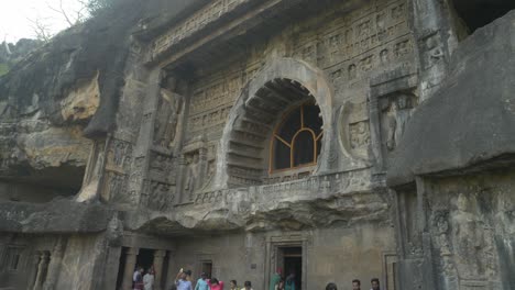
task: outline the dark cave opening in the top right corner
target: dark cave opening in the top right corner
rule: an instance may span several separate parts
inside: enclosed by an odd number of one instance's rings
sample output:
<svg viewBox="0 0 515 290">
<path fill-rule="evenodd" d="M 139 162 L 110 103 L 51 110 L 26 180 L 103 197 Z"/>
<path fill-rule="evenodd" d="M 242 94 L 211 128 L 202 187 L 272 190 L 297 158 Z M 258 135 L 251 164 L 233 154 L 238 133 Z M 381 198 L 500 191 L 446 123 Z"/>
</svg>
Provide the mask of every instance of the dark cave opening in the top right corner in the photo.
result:
<svg viewBox="0 0 515 290">
<path fill-rule="evenodd" d="M 515 9 L 513 0 L 452 0 L 451 2 L 469 34 Z"/>
</svg>

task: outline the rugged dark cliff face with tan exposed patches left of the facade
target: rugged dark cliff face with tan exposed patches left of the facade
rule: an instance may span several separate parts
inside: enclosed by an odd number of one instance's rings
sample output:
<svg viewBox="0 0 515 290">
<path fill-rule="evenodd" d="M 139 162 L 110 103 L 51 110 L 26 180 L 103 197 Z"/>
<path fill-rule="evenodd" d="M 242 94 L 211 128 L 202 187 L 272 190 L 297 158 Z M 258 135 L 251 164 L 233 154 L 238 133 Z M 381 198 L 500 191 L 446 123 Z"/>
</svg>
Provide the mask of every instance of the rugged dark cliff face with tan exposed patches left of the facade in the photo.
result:
<svg viewBox="0 0 515 290">
<path fill-rule="evenodd" d="M 47 188 L 44 200 L 80 188 L 92 144 L 86 135 L 114 126 L 138 2 L 58 34 L 0 78 L 0 177 L 11 189 L 0 197 L 23 200 L 26 185 Z"/>
</svg>

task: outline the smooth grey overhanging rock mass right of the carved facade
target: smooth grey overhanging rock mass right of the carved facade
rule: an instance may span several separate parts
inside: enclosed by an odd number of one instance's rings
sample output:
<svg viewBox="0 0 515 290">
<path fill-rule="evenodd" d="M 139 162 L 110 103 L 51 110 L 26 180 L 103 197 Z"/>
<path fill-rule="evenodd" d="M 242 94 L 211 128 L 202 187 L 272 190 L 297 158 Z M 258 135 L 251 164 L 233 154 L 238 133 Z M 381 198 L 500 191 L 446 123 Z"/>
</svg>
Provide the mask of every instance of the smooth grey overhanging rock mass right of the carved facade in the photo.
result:
<svg viewBox="0 0 515 290">
<path fill-rule="evenodd" d="M 450 69 L 406 126 L 390 185 L 515 154 L 515 11 L 463 41 Z"/>
</svg>

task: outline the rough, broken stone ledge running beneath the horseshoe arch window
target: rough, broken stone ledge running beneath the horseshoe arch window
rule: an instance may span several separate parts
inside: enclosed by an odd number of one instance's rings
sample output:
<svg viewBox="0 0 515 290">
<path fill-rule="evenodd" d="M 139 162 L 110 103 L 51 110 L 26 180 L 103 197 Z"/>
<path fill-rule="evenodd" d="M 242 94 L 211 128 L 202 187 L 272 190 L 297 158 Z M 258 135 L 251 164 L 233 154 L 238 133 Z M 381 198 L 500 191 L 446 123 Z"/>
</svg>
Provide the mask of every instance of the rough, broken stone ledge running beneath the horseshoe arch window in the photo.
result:
<svg viewBox="0 0 515 290">
<path fill-rule="evenodd" d="M 390 222 L 386 189 L 370 168 L 302 180 L 198 193 L 194 203 L 169 212 L 132 215 L 127 226 L 152 234 L 208 231 L 302 230 Z"/>
</svg>

